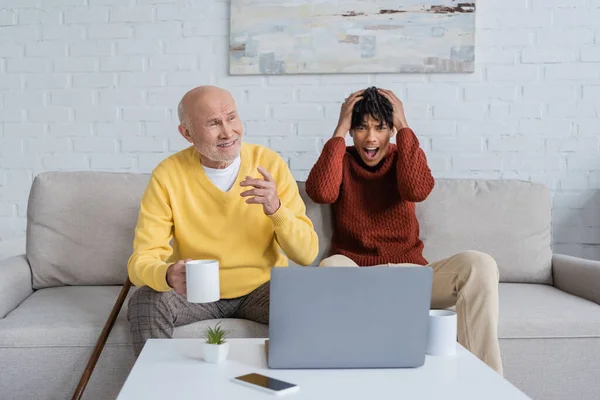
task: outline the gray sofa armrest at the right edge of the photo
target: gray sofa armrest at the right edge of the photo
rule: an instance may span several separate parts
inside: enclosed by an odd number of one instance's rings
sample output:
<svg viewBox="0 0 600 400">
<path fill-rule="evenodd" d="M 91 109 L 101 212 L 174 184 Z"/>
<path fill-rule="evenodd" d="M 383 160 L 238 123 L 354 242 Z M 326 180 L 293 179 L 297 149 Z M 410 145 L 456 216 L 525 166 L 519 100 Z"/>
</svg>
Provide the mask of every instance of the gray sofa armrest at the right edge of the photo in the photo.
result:
<svg viewBox="0 0 600 400">
<path fill-rule="evenodd" d="M 600 261 L 554 254 L 552 274 L 557 289 L 600 304 Z"/>
</svg>

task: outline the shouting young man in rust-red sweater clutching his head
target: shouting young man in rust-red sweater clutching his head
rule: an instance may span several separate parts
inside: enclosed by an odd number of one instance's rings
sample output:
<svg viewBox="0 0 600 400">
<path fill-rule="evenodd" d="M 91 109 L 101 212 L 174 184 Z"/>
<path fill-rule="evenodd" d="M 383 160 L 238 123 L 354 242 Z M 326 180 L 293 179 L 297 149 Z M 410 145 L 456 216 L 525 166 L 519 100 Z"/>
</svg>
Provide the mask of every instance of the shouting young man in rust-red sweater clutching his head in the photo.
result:
<svg viewBox="0 0 600 400">
<path fill-rule="evenodd" d="M 350 132 L 354 146 L 346 147 Z M 390 139 L 396 136 L 396 144 Z M 487 254 L 466 251 L 428 263 L 415 203 L 434 178 L 402 102 L 368 88 L 342 105 L 338 126 L 306 181 L 309 197 L 332 204 L 331 257 L 322 266 L 427 265 L 432 308 L 456 305 L 458 341 L 502 374 L 498 345 L 498 268 Z"/>
</svg>

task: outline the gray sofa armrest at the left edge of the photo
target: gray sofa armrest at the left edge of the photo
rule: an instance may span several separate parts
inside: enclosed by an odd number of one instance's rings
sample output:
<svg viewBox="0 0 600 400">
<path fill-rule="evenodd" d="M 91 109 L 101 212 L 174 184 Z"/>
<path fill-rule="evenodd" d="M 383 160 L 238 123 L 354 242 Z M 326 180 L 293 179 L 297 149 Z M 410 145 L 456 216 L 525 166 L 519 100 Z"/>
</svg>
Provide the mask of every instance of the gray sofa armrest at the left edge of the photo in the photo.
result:
<svg viewBox="0 0 600 400">
<path fill-rule="evenodd" d="M 0 319 L 32 293 L 27 257 L 23 254 L 0 261 Z"/>
</svg>

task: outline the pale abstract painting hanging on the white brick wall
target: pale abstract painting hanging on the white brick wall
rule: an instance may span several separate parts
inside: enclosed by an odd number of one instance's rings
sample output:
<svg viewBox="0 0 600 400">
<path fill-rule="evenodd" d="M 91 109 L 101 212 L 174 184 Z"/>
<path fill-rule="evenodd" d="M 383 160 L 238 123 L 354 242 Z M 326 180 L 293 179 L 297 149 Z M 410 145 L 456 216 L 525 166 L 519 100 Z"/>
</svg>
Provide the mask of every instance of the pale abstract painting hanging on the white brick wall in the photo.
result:
<svg viewBox="0 0 600 400">
<path fill-rule="evenodd" d="M 475 8 L 454 0 L 231 0 L 230 74 L 473 72 Z"/>
</svg>

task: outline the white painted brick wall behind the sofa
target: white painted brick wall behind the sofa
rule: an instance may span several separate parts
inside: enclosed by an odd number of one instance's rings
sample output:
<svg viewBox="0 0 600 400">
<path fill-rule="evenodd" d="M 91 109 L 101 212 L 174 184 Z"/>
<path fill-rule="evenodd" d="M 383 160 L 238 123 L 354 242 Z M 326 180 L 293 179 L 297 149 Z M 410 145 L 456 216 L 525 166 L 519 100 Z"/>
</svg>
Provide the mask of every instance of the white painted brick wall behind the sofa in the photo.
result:
<svg viewBox="0 0 600 400">
<path fill-rule="evenodd" d="M 557 250 L 600 259 L 600 0 L 480 1 L 468 75 L 230 77 L 226 1 L 0 7 L 0 240 L 23 234 L 39 172 L 148 172 L 185 147 L 175 107 L 193 86 L 230 89 L 247 140 L 304 179 L 339 102 L 377 85 L 404 100 L 437 177 L 545 183 Z"/>
</svg>

